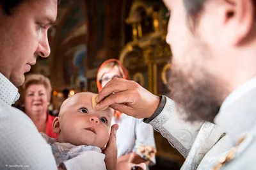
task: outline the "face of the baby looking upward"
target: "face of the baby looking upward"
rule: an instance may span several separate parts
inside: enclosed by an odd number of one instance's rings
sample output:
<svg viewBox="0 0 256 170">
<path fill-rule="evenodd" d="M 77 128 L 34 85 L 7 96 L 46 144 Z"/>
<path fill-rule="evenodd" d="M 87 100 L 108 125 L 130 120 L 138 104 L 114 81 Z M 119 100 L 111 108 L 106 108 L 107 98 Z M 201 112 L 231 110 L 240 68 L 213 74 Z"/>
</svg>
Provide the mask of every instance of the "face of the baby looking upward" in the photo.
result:
<svg viewBox="0 0 256 170">
<path fill-rule="evenodd" d="M 103 148 L 109 140 L 113 109 L 92 109 L 93 93 L 77 93 L 61 106 L 58 141 Z"/>
</svg>

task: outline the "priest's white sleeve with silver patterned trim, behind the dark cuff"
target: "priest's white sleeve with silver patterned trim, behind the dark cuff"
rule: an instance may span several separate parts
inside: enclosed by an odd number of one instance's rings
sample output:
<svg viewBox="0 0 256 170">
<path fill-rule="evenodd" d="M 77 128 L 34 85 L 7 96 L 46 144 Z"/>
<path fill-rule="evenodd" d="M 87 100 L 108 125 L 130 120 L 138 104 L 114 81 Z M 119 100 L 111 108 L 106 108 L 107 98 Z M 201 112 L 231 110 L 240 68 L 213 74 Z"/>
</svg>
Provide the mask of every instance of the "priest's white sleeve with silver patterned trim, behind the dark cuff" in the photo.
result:
<svg viewBox="0 0 256 170">
<path fill-rule="evenodd" d="M 211 169 L 220 155 L 232 148 L 230 138 L 213 123 L 185 121 L 183 114 L 175 109 L 175 102 L 165 98 L 163 111 L 150 125 L 186 158 L 181 169 Z"/>
</svg>

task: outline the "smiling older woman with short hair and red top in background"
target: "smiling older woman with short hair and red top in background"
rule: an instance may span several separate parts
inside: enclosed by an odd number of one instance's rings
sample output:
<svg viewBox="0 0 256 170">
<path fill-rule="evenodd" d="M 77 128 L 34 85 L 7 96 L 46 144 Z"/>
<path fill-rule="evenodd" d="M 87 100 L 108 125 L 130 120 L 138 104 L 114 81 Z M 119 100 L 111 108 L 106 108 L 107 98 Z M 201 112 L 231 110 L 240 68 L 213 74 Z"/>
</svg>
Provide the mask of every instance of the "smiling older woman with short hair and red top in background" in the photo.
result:
<svg viewBox="0 0 256 170">
<path fill-rule="evenodd" d="M 52 131 L 54 117 L 47 111 L 51 91 L 51 83 L 47 77 L 40 74 L 30 74 L 26 76 L 22 86 L 20 102 L 24 112 L 35 123 L 38 131 L 56 138 L 57 134 Z"/>
</svg>

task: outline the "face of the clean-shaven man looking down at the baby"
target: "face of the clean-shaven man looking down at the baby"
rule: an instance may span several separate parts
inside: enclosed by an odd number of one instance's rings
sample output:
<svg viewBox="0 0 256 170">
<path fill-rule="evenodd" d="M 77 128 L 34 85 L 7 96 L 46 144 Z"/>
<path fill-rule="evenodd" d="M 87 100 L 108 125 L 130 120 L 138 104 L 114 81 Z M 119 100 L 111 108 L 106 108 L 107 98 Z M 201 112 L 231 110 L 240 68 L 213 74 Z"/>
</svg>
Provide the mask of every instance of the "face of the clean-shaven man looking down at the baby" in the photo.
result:
<svg viewBox="0 0 256 170">
<path fill-rule="evenodd" d="M 37 56 L 49 56 L 47 31 L 56 20 L 57 6 L 57 0 L 28 0 L 11 16 L 0 12 L 0 72 L 15 86 L 22 85 Z"/>
</svg>

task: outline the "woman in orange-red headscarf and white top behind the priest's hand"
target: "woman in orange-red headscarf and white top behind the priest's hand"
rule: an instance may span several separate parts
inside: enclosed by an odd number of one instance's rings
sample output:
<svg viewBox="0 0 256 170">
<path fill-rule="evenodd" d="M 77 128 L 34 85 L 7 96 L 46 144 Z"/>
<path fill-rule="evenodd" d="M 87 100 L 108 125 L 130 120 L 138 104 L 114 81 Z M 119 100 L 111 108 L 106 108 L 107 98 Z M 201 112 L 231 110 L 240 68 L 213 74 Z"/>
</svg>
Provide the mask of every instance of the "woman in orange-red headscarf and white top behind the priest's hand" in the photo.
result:
<svg viewBox="0 0 256 170">
<path fill-rule="evenodd" d="M 117 59 L 109 59 L 100 66 L 97 73 L 98 90 L 101 91 L 113 77 L 130 78 L 127 69 Z M 149 166 L 156 164 L 156 144 L 152 126 L 118 111 L 114 111 L 112 123 L 119 125 L 116 132 L 118 164 L 130 161 L 134 164 L 145 162 Z"/>
</svg>

